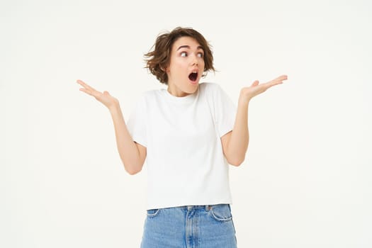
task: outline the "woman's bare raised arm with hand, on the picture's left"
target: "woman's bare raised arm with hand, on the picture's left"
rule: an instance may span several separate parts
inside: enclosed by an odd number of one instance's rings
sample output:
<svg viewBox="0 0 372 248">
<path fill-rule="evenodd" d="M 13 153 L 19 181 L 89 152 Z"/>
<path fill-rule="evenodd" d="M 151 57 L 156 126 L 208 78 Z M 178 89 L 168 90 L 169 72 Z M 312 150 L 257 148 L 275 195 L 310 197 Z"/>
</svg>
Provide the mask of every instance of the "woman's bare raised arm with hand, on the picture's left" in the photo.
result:
<svg viewBox="0 0 372 248">
<path fill-rule="evenodd" d="M 77 83 L 83 87 L 80 91 L 94 96 L 110 111 L 115 128 L 116 145 L 125 171 L 132 175 L 140 172 L 146 158 L 146 147 L 134 142 L 130 136 L 118 100 L 107 91 L 103 93 L 96 91 L 96 89 L 85 84 L 84 81 L 78 80 Z"/>
</svg>

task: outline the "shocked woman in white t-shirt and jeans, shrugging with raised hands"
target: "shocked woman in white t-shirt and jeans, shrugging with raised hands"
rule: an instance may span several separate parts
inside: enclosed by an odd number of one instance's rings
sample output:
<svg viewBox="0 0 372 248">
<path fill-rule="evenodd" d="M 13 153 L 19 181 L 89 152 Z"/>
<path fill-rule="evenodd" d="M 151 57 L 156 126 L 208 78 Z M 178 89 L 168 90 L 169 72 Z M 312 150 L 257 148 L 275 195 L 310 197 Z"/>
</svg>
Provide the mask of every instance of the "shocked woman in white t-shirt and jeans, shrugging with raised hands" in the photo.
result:
<svg viewBox="0 0 372 248">
<path fill-rule="evenodd" d="M 199 84 L 214 67 L 210 45 L 198 31 L 163 33 L 145 57 L 167 89 L 142 94 L 128 123 L 116 98 L 77 81 L 111 112 L 125 170 L 136 174 L 147 159 L 141 247 L 237 247 L 228 164 L 244 161 L 249 101 L 287 77 L 242 88 L 235 108 L 218 84 Z"/>
</svg>

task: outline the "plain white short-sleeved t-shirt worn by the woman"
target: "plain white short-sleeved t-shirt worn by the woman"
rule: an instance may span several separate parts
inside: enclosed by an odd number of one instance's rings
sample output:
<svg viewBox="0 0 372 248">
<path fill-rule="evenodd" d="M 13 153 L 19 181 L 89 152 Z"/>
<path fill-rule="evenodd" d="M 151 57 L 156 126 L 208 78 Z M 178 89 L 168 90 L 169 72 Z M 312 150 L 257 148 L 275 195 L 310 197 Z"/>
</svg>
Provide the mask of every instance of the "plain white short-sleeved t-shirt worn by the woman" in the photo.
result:
<svg viewBox="0 0 372 248">
<path fill-rule="evenodd" d="M 133 140 L 147 147 L 147 209 L 231 203 L 229 165 L 220 137 L 236 106 L 215 83 L 176 97 L 146 91 L 130 114 Z"/>
</svg>

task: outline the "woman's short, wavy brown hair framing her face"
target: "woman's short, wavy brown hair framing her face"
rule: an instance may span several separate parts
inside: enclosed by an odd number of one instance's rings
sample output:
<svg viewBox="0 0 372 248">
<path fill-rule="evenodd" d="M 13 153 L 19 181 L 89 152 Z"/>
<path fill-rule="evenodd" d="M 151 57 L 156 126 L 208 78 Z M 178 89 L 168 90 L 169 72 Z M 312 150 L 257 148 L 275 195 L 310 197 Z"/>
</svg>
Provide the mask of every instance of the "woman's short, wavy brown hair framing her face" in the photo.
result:
<svg viewBox="0 0 372 248">
<path fill-rule="evenodd" d="M 168 84 L 168 75 L 165 69 L 170 63 L 171 48 L 176 40 L 184 36 L 194 38 L 201 45 L 204 51 L 203 77 L 205 77 L 209 70 L 215 72 L 211 46 L 207 40 L 205 40 L 203 35 L 193 28 L 177 27 L 171 32 L 159 34 L 155 44 L 152 46 L 154 50 L 145 54 L 146 68 L 149 69 L 150 72 L 163 84 Z"/>
</svg>

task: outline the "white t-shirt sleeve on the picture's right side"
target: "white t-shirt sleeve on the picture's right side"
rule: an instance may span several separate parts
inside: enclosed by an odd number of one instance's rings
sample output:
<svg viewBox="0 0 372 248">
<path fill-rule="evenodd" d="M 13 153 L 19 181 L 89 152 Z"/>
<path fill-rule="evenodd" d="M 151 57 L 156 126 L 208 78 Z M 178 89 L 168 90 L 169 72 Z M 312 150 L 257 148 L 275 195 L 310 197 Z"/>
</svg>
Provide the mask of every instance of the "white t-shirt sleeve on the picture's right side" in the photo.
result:
<svg viewBox="0 0 372 248">
<path fill-rule="evenodd" d="M 220 137 L 229 133 L 235 124 L 235 115 L 237 108 L 231 98 L 221 88 L 220 85 L 214 84 L 214 112 L 215 112 L 215 125 Z"/>
</svg>

